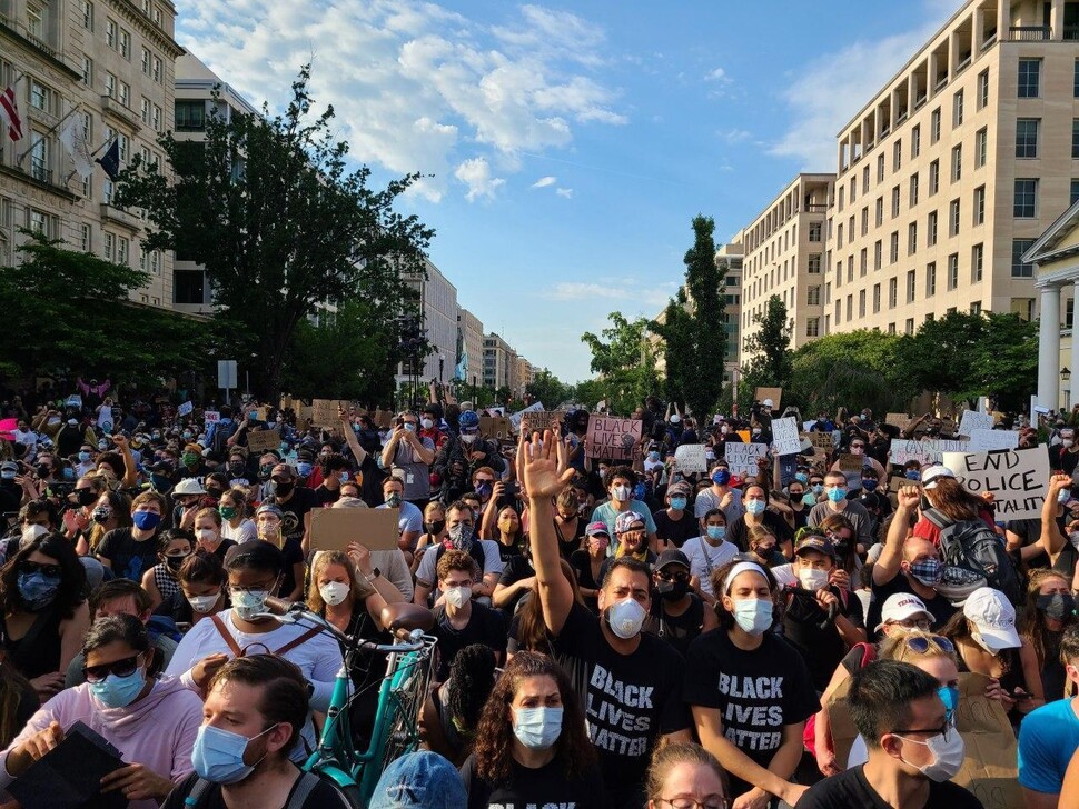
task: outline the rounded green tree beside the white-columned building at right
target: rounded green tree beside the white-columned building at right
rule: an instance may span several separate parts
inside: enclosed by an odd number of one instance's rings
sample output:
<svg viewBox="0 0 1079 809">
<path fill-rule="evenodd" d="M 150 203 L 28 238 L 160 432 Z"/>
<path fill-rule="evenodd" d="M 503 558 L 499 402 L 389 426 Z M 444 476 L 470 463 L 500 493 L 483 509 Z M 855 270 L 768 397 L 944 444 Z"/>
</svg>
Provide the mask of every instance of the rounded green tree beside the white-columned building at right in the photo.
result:
<svg viewBox="0 0 1079 809">
<path fill-rule="evenodd" d="M 904 337 L 901 356 L 919 389 L 1023 409 L 1038 386 L 1038 324 L 1011 313 L 951 312 Z"/>
</svg>

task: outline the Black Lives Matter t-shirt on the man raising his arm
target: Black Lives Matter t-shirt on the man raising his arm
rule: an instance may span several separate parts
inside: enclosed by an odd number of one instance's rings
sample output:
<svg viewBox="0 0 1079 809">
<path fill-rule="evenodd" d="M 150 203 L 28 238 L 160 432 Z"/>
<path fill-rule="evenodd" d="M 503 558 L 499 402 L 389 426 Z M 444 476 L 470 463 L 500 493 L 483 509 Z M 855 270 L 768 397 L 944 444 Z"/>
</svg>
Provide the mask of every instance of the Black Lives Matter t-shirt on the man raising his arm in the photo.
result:
<svg viewBox="0 0 1079 809">
<path fill-rule="evenodd" d="M 554 642 L 555 656 L 585 706 L 612 805 L 642 806 L 656 740 L 690 727 L 682 700 L 683 660 L 651 635 L 641 636 L 632 655 L 620 655 L 603 637 L 600 620 L 575 603 Z"/>
</svg>

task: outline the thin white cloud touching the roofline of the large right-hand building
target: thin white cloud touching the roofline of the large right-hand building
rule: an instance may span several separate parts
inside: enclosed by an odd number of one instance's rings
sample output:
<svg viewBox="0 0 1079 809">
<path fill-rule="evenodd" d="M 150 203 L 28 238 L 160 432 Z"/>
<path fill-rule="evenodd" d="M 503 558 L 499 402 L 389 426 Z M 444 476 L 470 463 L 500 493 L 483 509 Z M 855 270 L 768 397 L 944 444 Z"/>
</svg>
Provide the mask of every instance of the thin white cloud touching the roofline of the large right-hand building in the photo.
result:
<svg viewBox="0 0 1079 809">
<path fill-rule="evenodd" d="M 783 92 L 791 126 L 769 149 L 810 171 L 835 170 L 835 137 L 850 119 L 956 11 L 956 0 L 923 2 L 925 21 L 917 29 L 860 40 L 825 53 L 795 71 Z"/>
</svg>

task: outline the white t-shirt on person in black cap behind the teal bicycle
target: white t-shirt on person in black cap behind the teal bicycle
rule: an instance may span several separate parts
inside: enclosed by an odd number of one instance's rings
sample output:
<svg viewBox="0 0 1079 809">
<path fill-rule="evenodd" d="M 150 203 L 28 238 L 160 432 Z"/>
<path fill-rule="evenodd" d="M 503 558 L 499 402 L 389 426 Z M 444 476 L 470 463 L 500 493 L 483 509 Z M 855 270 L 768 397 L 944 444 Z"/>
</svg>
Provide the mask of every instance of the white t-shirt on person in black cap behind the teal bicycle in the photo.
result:
<svg viewBox="0 0 1079 809">
<path fill-rule="evenodd" d="M 236 625 L 232 622 L 232 610 L 225 610 L 218 615 L 225 621 L 225 627 L 228 633 L 232 636 L 236 645 L 240 649 L 250 646 L 251 653 L 265 652 L 267 649 L 269 651 L 277 651 L 309 629 L 309 627 L 287 623 L 269 632 L 250 635 L 248 632 L 241 632 L 236 628 Z M 266 649 L 263 648 L 264 646 Z M 198 686 L 191 679 L 191 668 L 208 655 L 218 652 L 228 655 L 229 657 L 232 656 L 232 650 L 229 649 L 225 638 L 217 631 L 217 626 L 214 621 L 199 621 L 180 640 L 180 645 L 176 648 L 172 660 L 169 662 L 165 673 L 170 677 L 179 677 L 180 682 L 187 688 L 197 691 Z M 314 686 L 315 690 L 310 699 L 311 710 L 325 711 L 329 708 L 329 700 L 334 693 L 334 682 L 337 677 L 337 671 L 341 667 L 340 647 L 337 645 L 337 641 L 325 633 L 316 635 L 299 646 L 293 647 L 281 655 L 281 657 L 289 662 L 296 663 L 304 673 L 304 677 Z M 314 750 L 316 740 L 315 733 L 311 730 L 309 716 L 308 721 L 304 722 L 301 736 L 309 749 Z M 304 752 L 303 748 L 304 745 L 297 745 L 297 750 L 300 753 Z M 298 753 L 294 751 L 294 757 Z"/>
</svg>

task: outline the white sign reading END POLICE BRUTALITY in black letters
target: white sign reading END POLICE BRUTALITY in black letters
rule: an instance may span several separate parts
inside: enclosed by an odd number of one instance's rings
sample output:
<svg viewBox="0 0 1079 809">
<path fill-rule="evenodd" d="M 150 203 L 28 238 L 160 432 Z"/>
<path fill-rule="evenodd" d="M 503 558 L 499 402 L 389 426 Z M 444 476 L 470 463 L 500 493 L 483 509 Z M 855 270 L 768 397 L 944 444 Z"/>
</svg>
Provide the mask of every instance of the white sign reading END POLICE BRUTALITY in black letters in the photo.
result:
<svg viewBox="0 0 1079 809">
<path fill-rule="evenodd" d="M 997 519 L 1041 516 L 1049 493 L 1049 453 L 1045 446 L 992 452 L 944 452 L 944 466 L 972 495 L 993 495 Z"/>
</svg>

